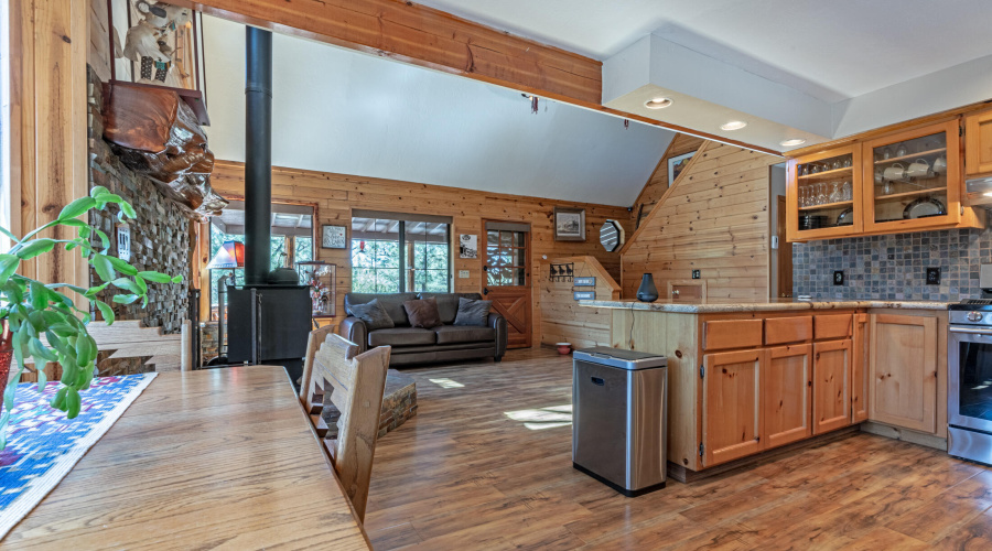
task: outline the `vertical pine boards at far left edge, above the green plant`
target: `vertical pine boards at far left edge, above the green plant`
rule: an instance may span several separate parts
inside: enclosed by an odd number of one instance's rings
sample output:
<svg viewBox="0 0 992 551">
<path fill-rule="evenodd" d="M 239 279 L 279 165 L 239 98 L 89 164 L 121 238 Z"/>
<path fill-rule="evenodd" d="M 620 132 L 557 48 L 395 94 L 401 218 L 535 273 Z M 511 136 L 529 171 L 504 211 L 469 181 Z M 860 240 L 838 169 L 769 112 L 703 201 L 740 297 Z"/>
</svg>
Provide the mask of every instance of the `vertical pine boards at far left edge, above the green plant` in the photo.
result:
<svg viewBox="0 0 992 551">
<path fill-rule="evenodd" d="M 87 0 L 10 0 L 11 225 L 21 235 L 57 218 L 89 192 L 86 53 Z M 18 212 L 20 209 L 20 212 Z M 60 228 L 43 237 L 67 238 Z M 88 264 L 54 251 L 24 262 L 42 281 L 88 287 Z"/>
</svg>

